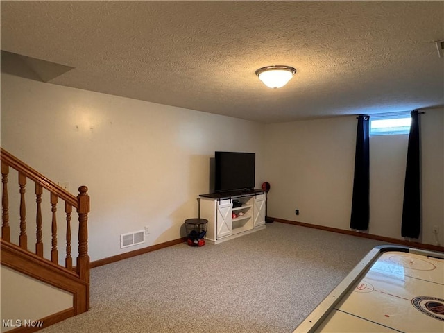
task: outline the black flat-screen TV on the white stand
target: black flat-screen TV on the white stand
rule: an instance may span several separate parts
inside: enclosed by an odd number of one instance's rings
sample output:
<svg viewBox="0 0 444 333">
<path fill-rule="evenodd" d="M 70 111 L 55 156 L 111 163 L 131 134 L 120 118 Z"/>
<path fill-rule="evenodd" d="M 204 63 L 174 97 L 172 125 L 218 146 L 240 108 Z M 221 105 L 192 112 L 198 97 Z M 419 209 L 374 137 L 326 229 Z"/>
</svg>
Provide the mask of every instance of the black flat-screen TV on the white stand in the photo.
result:
<svg viewBox="0 0 444 333">
<path fill-rule="evenodd" d="M 255 153 L 214 153 L 214 191 L 233 191 L 255 187 Z"/>
</svg>

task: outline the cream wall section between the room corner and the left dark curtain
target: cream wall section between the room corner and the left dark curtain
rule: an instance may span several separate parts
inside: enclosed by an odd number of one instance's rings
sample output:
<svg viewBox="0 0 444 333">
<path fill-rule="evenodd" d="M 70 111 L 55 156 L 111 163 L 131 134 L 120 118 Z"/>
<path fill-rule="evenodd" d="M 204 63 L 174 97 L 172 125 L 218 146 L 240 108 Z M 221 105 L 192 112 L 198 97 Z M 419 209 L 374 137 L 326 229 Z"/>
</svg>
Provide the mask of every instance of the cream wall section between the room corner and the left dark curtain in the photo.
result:
<svg viewBox="0 0 444 333">
<path fill-rule="evenodd" d="M 268 125 L 269 216 L 344 227 L 350 220 L 354 123 L 355 117 L 338 117 Z"/>
</svg>

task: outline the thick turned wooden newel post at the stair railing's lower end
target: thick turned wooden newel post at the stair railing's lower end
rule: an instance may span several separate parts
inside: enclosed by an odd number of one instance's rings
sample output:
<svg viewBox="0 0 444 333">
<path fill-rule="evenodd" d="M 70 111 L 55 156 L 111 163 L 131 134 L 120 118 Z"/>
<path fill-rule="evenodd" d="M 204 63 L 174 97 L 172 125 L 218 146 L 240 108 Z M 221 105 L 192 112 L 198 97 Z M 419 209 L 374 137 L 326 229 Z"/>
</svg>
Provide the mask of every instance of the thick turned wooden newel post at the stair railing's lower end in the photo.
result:
<svg viewBox="0 0 444 333">
<path fill-rule="evenodd" d="M 89 256 L 88 256 L 88 213 L 89 213 L 89 196 L 88 188 L 80 186 L 78 188 L 80 194 L 77 196 L 78 201 L 78 257 L 77 257 L 77 274 L 83 281 L 89 285 Z M 89 288 L 87 291 L 86 310 L 89 309 Z"/>
</svg>

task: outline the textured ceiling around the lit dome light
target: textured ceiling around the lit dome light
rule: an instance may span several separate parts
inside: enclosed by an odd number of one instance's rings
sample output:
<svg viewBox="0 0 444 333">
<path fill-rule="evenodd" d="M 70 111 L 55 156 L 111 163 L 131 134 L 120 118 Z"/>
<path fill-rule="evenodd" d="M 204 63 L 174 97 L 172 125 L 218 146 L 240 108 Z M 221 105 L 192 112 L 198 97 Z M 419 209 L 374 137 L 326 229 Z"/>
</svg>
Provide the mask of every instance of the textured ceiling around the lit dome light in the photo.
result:
<svg viewBox="0 0 444 333">
<path fill-rule="evenodd" d="M 0 4 L 1 50 L 56 85 L 266 123 L 444 105 L 443 1 Z"/>
</svg>

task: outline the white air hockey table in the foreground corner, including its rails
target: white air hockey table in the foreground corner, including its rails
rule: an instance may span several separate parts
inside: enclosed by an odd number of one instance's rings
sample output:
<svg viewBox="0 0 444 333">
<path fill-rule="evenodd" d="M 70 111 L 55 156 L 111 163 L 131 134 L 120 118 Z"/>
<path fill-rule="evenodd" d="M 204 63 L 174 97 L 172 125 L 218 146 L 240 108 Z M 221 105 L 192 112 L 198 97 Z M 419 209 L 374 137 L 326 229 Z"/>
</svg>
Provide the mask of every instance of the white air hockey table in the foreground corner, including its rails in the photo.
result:
<svg viewBox="0 0 444 333">
<path fill-rule="evenodd" d="M 444 333 L 444 253 L 376 246 L 293 333 Z"/>
</svg>

